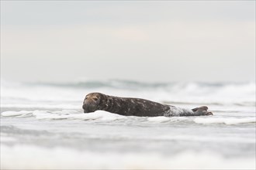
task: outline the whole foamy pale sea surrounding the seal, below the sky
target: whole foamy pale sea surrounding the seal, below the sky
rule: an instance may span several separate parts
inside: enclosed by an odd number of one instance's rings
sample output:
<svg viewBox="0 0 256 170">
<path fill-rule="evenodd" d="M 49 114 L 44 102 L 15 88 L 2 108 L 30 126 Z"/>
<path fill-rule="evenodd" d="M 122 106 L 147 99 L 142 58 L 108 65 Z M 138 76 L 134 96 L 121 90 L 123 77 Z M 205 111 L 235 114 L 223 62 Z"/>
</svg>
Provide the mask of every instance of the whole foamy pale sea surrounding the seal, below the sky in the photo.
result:
<svg viewBox="0 0 256 170">
<path fill-rule="evenodd" d="M 83 114 L 91 92 L 213 116 Z M 255 125 L 255 83 L 1 80 L 2 169 L 255 169 Z"/>
</svg>

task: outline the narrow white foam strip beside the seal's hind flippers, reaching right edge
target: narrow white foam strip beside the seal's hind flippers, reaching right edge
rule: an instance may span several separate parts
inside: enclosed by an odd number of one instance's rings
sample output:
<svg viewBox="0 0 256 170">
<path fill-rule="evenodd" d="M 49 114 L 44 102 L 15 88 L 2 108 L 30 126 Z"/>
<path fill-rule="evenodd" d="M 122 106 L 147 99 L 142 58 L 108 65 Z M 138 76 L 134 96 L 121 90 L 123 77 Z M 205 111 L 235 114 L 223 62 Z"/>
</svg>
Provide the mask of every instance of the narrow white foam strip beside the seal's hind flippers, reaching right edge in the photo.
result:
<svg viewBox="0 0 256 170">
<path fill-rule="evenodd" d="M 256 117 L 244 117 L 244 118 L 196 117 L 193 121 L 196 124 L 245 124 L 245 123 L 255 123 Z"/>
</svg>

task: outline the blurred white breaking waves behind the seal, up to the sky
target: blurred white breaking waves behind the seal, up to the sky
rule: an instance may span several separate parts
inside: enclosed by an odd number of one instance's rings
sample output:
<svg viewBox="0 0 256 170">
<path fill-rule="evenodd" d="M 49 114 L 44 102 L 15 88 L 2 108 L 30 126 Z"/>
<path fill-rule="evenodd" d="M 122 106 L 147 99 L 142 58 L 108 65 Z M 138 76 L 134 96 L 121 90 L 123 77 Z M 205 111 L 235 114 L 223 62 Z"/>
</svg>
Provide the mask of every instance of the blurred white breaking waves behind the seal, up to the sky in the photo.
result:
<svg viewBox="0 0 256 170">
<path fill-rule="evenodd" d="M 109 80 L 75 83 L 14 83 L 2 80 L 2 107 L 80 107 L 85 94 L 140 97 L 166 104 L 255 107 L 255 83 L 140 83 Z M 40 102 L 40 103 L 39 103 Z M 68 107 L 69 106 L 69 107 Z"/>
</svg>

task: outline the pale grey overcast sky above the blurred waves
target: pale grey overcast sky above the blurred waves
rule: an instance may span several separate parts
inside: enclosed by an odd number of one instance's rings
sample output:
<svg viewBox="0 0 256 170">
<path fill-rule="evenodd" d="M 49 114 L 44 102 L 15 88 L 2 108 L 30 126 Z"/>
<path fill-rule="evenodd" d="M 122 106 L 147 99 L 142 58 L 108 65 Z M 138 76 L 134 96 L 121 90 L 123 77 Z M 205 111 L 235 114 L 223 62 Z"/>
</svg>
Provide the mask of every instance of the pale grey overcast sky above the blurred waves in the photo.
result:
<svg viewBox="0 0 256 170">
<path fill-rule="evenodd" d="M 1 1 L 1 78 L 255 81 L 255 2 Z"/>
</svg>

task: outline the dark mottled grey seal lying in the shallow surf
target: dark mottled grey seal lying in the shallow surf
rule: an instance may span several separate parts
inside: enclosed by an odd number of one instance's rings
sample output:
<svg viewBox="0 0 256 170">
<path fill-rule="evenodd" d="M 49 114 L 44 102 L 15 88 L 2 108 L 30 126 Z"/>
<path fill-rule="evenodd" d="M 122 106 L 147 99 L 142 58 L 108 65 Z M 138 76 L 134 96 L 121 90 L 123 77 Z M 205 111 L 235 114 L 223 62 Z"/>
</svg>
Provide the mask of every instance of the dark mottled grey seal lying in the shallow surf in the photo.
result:
<svg viewBox="0 0 256 170">
<path fill-rule="evenodd" d="M 212 115 L 211 112 L 207 111 L 208 107 L 196 107 L 192 110 L 187 110 L 167 104 L 159 104 L 150 100 L 113 97 L 103 93 L 88 93 L 82 107 L 84 113 L 106 110 L 114 114 L 140 117 Z"/>
</svg>

